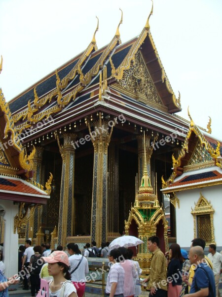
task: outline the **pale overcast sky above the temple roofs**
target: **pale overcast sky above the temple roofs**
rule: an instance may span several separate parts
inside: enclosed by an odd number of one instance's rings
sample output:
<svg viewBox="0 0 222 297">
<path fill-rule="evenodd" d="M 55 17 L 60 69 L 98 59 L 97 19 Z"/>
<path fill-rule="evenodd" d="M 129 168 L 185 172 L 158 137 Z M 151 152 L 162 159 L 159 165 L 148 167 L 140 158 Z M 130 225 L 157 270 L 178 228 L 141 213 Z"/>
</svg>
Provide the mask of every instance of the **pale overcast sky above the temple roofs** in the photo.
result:
<svg viewBox="0 0 222 297">
<path fill-rule="evenodd" d="M 222 0 L 153 0 L 150 31 L 182 112 L 222 139 Z M 99 17 L 97 46 L 139 35 L 148 0 L 0 0 L 0 87 L 10 100 L 54 71 L 90 43 Z"/>
</svg>

